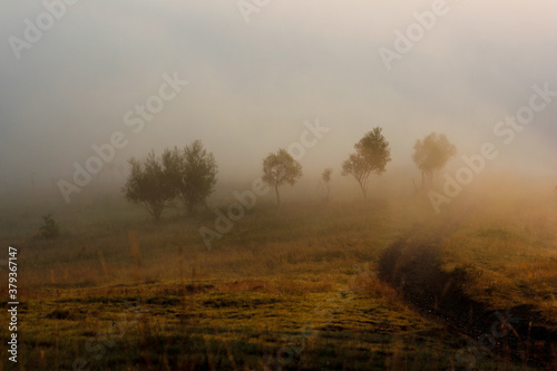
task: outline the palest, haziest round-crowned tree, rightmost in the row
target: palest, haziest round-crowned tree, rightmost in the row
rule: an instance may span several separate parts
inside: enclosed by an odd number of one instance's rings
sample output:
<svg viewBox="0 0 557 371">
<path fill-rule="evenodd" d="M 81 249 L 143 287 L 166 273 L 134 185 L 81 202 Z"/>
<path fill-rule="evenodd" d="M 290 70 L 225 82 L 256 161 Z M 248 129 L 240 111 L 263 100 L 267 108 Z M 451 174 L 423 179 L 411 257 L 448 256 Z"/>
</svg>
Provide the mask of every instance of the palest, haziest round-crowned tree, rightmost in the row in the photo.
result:
<svg viewBox="0 0 557 371">
<path fill-rule="evenodd" d="M 442 169 L 456 154 L 457 148 L 444 134 L 431 133 L 416 140 L 412 159 L 421 172 L 422 189 L 432 185 L 434 172 Z"/>
</svg>

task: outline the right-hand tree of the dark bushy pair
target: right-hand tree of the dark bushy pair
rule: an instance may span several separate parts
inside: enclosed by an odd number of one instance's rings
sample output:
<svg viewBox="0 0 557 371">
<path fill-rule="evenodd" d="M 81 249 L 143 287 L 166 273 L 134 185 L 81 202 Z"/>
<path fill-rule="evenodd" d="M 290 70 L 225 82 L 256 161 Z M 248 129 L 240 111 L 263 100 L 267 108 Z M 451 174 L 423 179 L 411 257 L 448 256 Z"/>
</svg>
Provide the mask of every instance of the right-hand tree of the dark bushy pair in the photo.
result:
<svg viewBox="0 0 557 371">
<path fill-rule="evenodd" d="M 215 188 L 218 172 L 215 157 L 203 148 L 201 140 L 195 140 L 182 150 L 166 149 L 163 164 L 177 198 L 189 215 L 195 215 Z"/>
</svg>

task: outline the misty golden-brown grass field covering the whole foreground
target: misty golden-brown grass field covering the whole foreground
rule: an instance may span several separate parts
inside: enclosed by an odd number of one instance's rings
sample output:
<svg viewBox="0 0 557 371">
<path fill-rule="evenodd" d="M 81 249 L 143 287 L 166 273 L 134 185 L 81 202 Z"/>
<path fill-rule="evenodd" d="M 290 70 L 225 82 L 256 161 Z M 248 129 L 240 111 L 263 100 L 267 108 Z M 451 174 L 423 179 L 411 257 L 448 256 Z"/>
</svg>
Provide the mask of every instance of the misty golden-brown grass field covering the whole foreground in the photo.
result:
<svg viewBox="0 0 557 371">
<path fill-rule="evenodd" d="M 482 203 L 439 216 L 428 207 L 413 197 L 258 205 L 212 250 L 198 233 L 213 225 L 211 212 L 198 219 L 173 212 L 155 224 L 106 199 L 55 212 L 63 228 L 56 241 L 32 237 L 40 225 L 32 209 L 6 213 L 0 242 L 19 250 L 22 304 L 19 362 L 2 348 L 0 369 L 555 369 L 555 207 Z M 451 323 L 442 295 L 416 297 L 426 276 L 416 244 L 392 267 L 410 267 L 403 285 L 380 279 L 401 236 L 436 235 L 448 223 L 428 280 L 457 277 L 459 297 L 498 313 L 521 307 L 529 325 L 490 326 L 479 313 L 470 315 L 477 333 Z M 480 345 L 478 333 L 498 346 Z"/>
</svg>

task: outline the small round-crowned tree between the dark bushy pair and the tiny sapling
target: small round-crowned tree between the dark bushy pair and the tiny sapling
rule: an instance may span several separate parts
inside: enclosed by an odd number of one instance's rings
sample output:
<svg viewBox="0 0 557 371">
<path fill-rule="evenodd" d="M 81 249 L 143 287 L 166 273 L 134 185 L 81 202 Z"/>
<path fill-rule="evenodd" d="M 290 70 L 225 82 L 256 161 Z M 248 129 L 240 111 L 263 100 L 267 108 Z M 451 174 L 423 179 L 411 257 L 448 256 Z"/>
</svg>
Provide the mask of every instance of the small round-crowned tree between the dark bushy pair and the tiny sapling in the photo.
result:
<svg viewBox="0 0 557 371">
<path fill-rule="evenodd" d="M 283 184 L 293 186 L 302 177 L 302 165 L 285 149 L 268 154 L 263 160 L 263 182 L 275 188 L 276 204 L 281 204 L 278 187 Z"/>
</svg>

